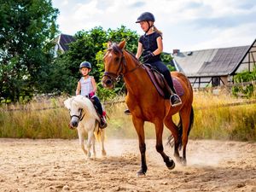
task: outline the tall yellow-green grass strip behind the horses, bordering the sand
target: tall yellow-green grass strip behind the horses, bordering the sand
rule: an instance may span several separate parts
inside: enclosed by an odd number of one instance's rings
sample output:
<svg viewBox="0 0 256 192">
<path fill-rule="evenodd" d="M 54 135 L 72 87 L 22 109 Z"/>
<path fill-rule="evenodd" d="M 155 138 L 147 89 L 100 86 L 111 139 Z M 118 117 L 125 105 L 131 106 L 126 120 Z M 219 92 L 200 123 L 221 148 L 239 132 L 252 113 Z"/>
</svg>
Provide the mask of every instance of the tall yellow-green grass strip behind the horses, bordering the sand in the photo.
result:
<svg viewBox="0 0 256 192">
<path fill-rule="evenodd" d="M 77 131 L 70 130 L 68 110 L 63 107 L 65 97 L 32 101 L 26 105 L 16 104 L 0 108 L 0 137 L 12 138 L 76 138 Z M 108 113 L 107 137 L 136 138 L 131 115 L 125 115 L 124 97 L 106 102 Z M 221 139 L 256 141 L 256 102 L 253 99 L 237 99 L 225 91 L 217 95 L 209 92 L 195 92 L 193 108 L 194 126 L 190 131 L 192 139 Z M 247 104 L 245 102 L 251 102 Z M 239 103 L 232 105 L 231 103 Z M 244 104 L 242 104 L 244 103 Z M 178 115 L 173 119 L 177 123 Z M 146 138 L 154 138 L 154 125 L 145 124 Z M 164 137 L 170 131 L 165 129 Z"/>
</svg>

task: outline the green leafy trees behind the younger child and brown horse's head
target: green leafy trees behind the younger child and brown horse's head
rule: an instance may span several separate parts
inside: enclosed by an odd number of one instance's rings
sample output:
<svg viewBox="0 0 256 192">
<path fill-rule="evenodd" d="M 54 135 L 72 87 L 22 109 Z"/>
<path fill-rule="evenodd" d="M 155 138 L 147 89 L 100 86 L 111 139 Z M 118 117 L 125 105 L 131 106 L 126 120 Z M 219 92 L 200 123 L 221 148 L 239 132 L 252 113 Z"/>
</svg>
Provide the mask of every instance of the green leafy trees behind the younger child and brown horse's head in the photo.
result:
<svg viewBox="0 0 256 192">
<path fill-rule="evenodd" d="M 104 31 L 101 26 L 97 26 L 88 32 L 77 32 L 75 35 L 76 41 L 69 44 L 68 51 L 59 55 L 55 60 L 53 68 L 49 69 L 53 75 L 56 73 L 55 69 L 57 70 L 59 68 L 61 70 L 60 75 L 57 76 L 64 75 L 64 77 L 59 77 L 63 84 L 47 84 L 49 86 L 47 90 L 56 89 L 73 95 L 77 81 L 80 79 L 79 64 L 82 61 L 89 61 L 92 64 L 90 75 L 94 76 L 98 83 L 97 95 L 102 100 L 113 98 L 113 96 L 124 90 L 122 89 L 123 82 L 116 84 L 113 90 L 102 89 L 101 81 L 104 71 L 103 56 L 107 50 L 107 43 L 109 40 L 119 43 L 126 39 L 126 49 L 135 53 L 137 51 L 138 37 L 136 32 L 126 29 L 125 26 L 121 26 L 116 30 L 108 29 L 108 31 Z M 53 79 L 48 79 L 47 81 L 52 82 Z M 59 86 L 56 87 L 56 85 Z"/>
</svg>

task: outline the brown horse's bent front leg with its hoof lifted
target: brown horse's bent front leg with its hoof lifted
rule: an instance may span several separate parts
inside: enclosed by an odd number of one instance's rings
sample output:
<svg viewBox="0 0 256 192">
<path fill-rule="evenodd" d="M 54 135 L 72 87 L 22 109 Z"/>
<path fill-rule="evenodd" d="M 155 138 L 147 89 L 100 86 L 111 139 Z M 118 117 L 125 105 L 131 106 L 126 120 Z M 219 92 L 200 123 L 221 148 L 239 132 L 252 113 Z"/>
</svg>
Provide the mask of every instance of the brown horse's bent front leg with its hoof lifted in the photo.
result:
<svg viewBox="0 0 256 192">
<path fill-rule="evenodd" d="M 164 130 L 164 125 L 162 121 L 154 123 L 155 125 L 155 134 L 156 134 L 156 151 L 161 154 L 163 160 L 166 163 L 166 166 L 168 169 L 173 169 L 175 167 L 175 163 L 172 159 L 170 159 L 169 156 L 166 155 L 164 152 L 164 147 L 163 147 L 163 130 Z"/>
</svg>

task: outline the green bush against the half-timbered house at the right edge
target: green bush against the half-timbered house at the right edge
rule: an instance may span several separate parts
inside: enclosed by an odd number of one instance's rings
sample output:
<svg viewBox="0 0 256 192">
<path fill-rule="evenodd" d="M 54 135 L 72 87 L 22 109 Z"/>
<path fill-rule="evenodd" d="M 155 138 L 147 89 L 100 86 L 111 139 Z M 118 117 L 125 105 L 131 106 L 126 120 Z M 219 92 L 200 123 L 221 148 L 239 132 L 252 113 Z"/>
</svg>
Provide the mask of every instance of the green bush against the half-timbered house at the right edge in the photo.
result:
<svg viewBox="0 0 256 192">
<path fill-rule="evenodd" d="M 245 82 L 253 82 L 256 81 L 256 67 L 253 68 L 253 72 L 244 71 L 242 73 L 236 74 L 234 77 L 235 83 L 245 83 Z M 255 84 L 247 84 L 247 85 L 236 85 L 232 87 L 232 94 L 234 96 L 239 96 L 242 94 L 246 97 L 253 96 L 255 92 Z"/>
</svg>

